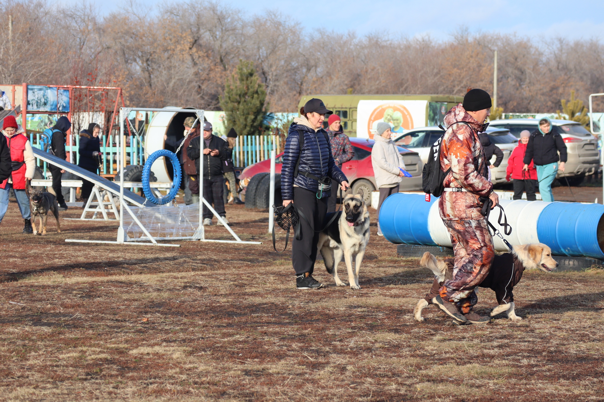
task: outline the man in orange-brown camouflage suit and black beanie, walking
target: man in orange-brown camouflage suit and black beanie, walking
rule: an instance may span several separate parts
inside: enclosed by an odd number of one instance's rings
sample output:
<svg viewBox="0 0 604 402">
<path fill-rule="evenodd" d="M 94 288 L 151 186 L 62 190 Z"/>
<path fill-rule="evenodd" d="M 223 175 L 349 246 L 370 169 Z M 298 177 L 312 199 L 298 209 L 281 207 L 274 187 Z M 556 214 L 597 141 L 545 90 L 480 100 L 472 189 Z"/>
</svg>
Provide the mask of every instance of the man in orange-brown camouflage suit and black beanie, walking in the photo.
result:
<svg viewBox="0 0 604 402">
<path fill-rule="evenodd" d="M 483 200 L 490 198 L 493 206 L 499 198 L 488 177 L 487 161 L 478 133 L 484 131 L 491 99 L 482 89 L 472 89 L 463 104 L 445 115 L 446 132 L 440 151 L 440 168 L 446 172 L 445 192 L 439 199 L 443 219 L 455 254 L 453 277 L 445 281 L 439 295 L 432 301 L 460 324 L 481 324 L 490 317 L 472 312 L 478 298 L 474 288 L 489 273 L 495 250 L 481 214 Z M 482 199 L 481 199 L 482 198 Z"/>
</svg>

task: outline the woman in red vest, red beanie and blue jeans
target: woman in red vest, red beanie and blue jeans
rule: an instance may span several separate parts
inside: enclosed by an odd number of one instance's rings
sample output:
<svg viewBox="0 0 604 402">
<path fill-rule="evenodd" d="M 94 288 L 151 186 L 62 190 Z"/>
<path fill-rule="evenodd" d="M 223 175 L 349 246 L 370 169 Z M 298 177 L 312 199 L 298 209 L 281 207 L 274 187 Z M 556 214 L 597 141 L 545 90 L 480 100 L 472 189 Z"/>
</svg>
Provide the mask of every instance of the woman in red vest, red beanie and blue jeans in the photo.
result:
<svg viewBox="0 0 604 402">
<path fill-rule="evenodd" d="M 34 151 L 31 149 L 30 140 L 25 136 L 25 130 L 17 124 L 14 116 L 4 118 L 2 134 L 6 137 L 10 149 L 12 174 L 0 184 L 0 222 L 8 209 L 8 193 L 13 189 L 25 223 L 23 233 L 33 233 L 30 199 L 25 193 L 25 179 L 31 180 L 34 177 L 34 169 L 36 169 Z"/>
</svg>

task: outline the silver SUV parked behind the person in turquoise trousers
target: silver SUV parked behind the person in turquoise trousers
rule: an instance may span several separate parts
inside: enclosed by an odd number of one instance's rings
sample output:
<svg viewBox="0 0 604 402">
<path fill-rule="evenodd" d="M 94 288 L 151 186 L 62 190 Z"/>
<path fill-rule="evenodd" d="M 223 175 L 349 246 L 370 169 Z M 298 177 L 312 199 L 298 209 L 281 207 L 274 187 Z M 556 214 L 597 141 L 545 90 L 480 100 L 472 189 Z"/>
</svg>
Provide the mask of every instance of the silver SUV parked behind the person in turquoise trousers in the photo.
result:
<svg viewBox="0 0 604 402">
<path fill-rule="evenodd" d="M 506 128 L 519 138 L 522 130 L 533 133 L 538 124 L 539 119 L 509 119 L 493 120 L 490 127 Z M 559 172 L 557 178 L 566 177 L 571 186 L 578 186 L 586 175 L 593 174 L 600 166 L 598 141 L 578 122 L 555 119 L 551 124 L 562 136 L 568 152 L 565 171 L 562 174 Z"/>
</svg>

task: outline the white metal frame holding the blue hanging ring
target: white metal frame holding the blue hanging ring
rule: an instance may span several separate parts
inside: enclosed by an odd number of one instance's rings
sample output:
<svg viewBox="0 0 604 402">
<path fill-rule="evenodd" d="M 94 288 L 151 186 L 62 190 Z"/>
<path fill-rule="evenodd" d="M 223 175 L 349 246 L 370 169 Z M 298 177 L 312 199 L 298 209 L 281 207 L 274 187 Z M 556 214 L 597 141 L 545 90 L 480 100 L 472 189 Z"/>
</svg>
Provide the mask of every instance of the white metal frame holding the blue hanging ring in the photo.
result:
<svg viewBox="0 0 604 402">
<path fill-rule="evenodd" d="M 187 111 L 188 113 L 195 113 L 197 118 L 199 119 L 199 125 L 201 126 L 204 122 L 204 110 L 202 109 L 181 109 L 175 107 L 165 107 L 165 108 L 133 108 L 133 107 L 121 107 L 120 108 L 120 137 L 118 138 L 118 152 L 120 154 L 120 158 L 118 158 L 117 165 L 120 170 L 120 227 L 117 231 L 117 240 L 115 242 L 111 241 L 99 241 L 99 240 L 76 240 L 76 239 L 66 239 L 66 242 L 76 242 L 76 243 L 115 243 L 115 244 L 136 244 L 136 245 L 150 245 L 150 246 L 166 246 L 166 247 L 180 247 L 179 244 L 162 244 L 158 243 L 157 240 L 198 240 L 202 242 L 219 242 L 219 243 L 244 243 L 244 244 L 262 244 L 262 242 L 245 242 L 237 236 L 237 234 L 231 229 L 231 227 L 222 219 L 221 216 L 218 215 L 216 210 L 208 203 L 208 201 L 204 198 L 204 175 L 199 175 L 199 227 L 193 234 L 193 236 L 183 236 L 183 237 L 158 237 L 157 239 L 147 231 L 147 229 L 141 224 L 138 220 L 137 216 L 132 212 L 130 207 L 127 205 L 126 201 L 124 201 L 124 166 L 123 161 L 126 159 L 126 146 L 123 144 L 124 139 L 124 120 L 127 119 L 130 111 L 167 111 L 167 112 L 176 112 L 182 113 L 183 111 Z M 186 152 L 186 149 L 183 149 L 183 152 Z M 202 155 L 199 157 L 199 170 L 201 172 L 204 171 L 204 158 Z M 214 239 L 206 239 L 205 238 L 205 230 L 204 230 L 204 219 L 203 219 L 203 205 L 208 207 L 214 216 L 220 221 L 220 223 L 226 228 L 226 230 L 231 233 L 236 240 L 214 240 Z M 126 230 L 124 230 L 124 209 L 132 216 L 133 221 L 138 225 L 138 227 L 143 230 L 145 234 L 144 237 L 139 239 L 130 239 L 127 236 Z M 142 240 L 142 241 L 141 241 Z M 151 240 L 150 243 L 143 242 L 146 240 Z"/>
</svg>

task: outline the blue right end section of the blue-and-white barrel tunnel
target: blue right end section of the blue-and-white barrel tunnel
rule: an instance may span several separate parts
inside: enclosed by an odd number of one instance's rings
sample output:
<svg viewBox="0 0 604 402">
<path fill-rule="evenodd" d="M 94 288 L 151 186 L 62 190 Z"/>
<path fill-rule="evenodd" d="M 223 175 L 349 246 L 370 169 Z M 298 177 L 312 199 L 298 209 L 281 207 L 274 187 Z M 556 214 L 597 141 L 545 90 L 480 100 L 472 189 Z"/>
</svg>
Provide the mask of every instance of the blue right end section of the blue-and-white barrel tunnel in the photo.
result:
<svg viewBox="0 0 604 402">
<path fill-rule="evenodd" d="M 597 234 L 602 215 L 601 204 L 551 203 L 539 214 L 539 242 L 551 247 L 554 254 L 602 259 Z"/>
</svg>

